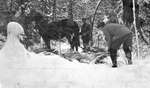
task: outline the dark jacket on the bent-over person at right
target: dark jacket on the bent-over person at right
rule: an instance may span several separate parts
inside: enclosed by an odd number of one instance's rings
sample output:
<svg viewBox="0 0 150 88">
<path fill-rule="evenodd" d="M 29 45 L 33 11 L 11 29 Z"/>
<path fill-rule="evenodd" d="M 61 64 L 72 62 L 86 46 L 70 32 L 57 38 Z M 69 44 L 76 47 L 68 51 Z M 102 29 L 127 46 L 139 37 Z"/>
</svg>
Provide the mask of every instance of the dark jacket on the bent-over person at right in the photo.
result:
<svg viewBox="0 0 150 88">
<path fill-rule="evenodd" d="M 131 33 L 131 31 L 125 25 L 115 23 L 106 24 L 104 28 L 102 28 L 102 31 L 105 35 L 105 39 L 109 48 L 112 41 Z"/>
</svg>

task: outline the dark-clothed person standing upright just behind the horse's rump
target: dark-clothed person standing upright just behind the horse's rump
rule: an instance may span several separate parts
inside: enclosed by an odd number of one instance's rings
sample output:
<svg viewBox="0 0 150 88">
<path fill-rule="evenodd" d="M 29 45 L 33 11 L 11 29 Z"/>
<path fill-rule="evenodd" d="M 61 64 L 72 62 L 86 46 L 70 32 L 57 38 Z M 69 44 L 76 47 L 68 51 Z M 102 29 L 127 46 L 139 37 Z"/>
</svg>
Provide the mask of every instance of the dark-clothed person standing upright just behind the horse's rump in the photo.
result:
<svg viewBox="0 0 150 88">
<path fill-rule="evenodd" d="M 84 51 L 89 49 L 89 43 L 92 39 L 92 26 L 88 23 L 87 18 L 82 18 L 81 38 L 83 41 Z"/>
</svg>

